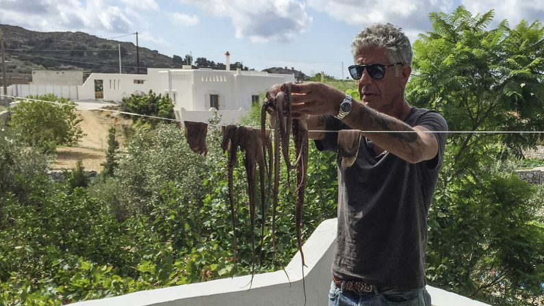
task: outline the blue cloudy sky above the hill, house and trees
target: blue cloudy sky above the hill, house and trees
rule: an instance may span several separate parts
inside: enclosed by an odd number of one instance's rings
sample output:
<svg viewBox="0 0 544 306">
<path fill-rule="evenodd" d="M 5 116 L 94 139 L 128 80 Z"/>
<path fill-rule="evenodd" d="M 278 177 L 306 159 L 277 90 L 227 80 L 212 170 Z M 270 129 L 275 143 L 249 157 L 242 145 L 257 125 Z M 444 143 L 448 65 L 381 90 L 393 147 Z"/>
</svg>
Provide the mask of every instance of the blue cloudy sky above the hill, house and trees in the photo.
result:
<svg viewBox="0 0 544 306">
<path fill-rule="evenodd" d="M 544 0 L 0 0 L 0 23 L 101 38 L 138 31 L 140 46 L 169 56 L 224 63 L 229 51 L 231 63 L 257 71 L 287 66 L 346 78 L 350 44 L 367 25 L 393 23 L 413 42 L 430 29 L 430 12 L 458 5 L 494 10 L 490 27 L 544 21 Z M 116 40 L 135 43 L 135 35 Z"/>
</svg>

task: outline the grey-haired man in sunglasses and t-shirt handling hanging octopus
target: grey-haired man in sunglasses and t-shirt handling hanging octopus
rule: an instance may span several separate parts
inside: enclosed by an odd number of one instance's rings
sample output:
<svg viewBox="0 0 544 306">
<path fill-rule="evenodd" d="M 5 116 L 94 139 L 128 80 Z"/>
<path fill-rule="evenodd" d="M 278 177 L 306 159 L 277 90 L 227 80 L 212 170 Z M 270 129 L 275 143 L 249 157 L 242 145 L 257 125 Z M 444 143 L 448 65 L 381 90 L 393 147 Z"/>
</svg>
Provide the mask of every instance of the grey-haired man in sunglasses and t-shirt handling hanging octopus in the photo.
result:
<svg viewBox="0 0 544 306">
<path fill-rule="evenodd" d="M 376 24 L 352 43 L 361 101 L 320 83 L 293 84 L 292 112 L 308 129 L 359 129 L 357 160 L 338 160 L 338 233 L 329 305 L 424 305 L 427 214 L 442 164 L 448 126 L 437 112 L 411 107 L 409 39 Z M 268 92 L 275 97 L 279 86 Z M 372 132 L 374 131 L 374 133 Z M 379 133 L 376 131 L 380 131 Z M 309 133 L 337 151 L 337 133 Z"/>
</svg>

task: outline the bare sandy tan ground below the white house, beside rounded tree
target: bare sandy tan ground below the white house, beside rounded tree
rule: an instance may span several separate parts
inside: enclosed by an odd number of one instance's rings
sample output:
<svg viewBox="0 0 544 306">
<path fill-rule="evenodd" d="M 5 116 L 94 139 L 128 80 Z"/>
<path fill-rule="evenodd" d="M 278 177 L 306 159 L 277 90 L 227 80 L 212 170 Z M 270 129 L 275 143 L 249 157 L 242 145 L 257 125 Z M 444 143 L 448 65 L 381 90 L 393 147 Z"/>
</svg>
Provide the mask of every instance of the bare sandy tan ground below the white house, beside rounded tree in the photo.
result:
<svg viewBox="0 0 544 306">
<path fill-rule="evenodd" d="M 81 159 L 86 170 L 101 171 L 101 163 L 105 161 L 106 156 L 109 127 L 116 127 L 116 138 L 122 145 L 124 143 L 122 125 L 131 125 L 131 120 L 114 116 L 111 112 L 82 110 L 76 113 L 83 119 L 79 127 L 86 135 L 81 138 L 78 146 L 57 148 L 57 159 L 51 165 L 51 169 L 74 168 L 77 160 Z"/>
</svg>

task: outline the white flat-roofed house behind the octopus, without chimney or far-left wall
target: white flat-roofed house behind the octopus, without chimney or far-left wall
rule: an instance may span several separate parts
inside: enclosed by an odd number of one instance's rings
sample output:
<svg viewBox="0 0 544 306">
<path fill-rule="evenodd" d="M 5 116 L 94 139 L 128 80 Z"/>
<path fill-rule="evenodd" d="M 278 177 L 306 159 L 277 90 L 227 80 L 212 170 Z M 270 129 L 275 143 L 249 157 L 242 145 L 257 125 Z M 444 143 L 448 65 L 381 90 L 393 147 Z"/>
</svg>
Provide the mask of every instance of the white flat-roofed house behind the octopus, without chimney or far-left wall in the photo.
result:
<svg viewBox="0 0 544 306">
<path fill-rule="evenodd" d="M 294 80 L 294 75 L 239 69 L 148 68 L 146 75 L 92 73 L 77 92 L 79 100 L 120 101 L 134 92 L 153 90 L 172 99 L 178 120 L 206 122 L 218 111 L 223 123 L 235 123 L 267 88 Z"/>
</svg>

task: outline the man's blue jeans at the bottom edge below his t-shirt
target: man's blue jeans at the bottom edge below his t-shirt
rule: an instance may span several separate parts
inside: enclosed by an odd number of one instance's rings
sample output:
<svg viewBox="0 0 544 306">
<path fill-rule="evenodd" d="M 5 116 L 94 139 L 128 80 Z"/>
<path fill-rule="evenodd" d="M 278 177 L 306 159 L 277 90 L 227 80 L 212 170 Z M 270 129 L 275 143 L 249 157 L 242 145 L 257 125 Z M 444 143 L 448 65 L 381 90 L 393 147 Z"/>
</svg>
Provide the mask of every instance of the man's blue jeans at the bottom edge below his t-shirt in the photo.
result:
<svg viewBox="0 0 544 306">
<path fill-rule="evenodd" d="M 331 283 L 328 306 L 431 306 L 425 288 L 416 290 L 378 290 L 378 292 L 342 292 Z"/>
</svg>

